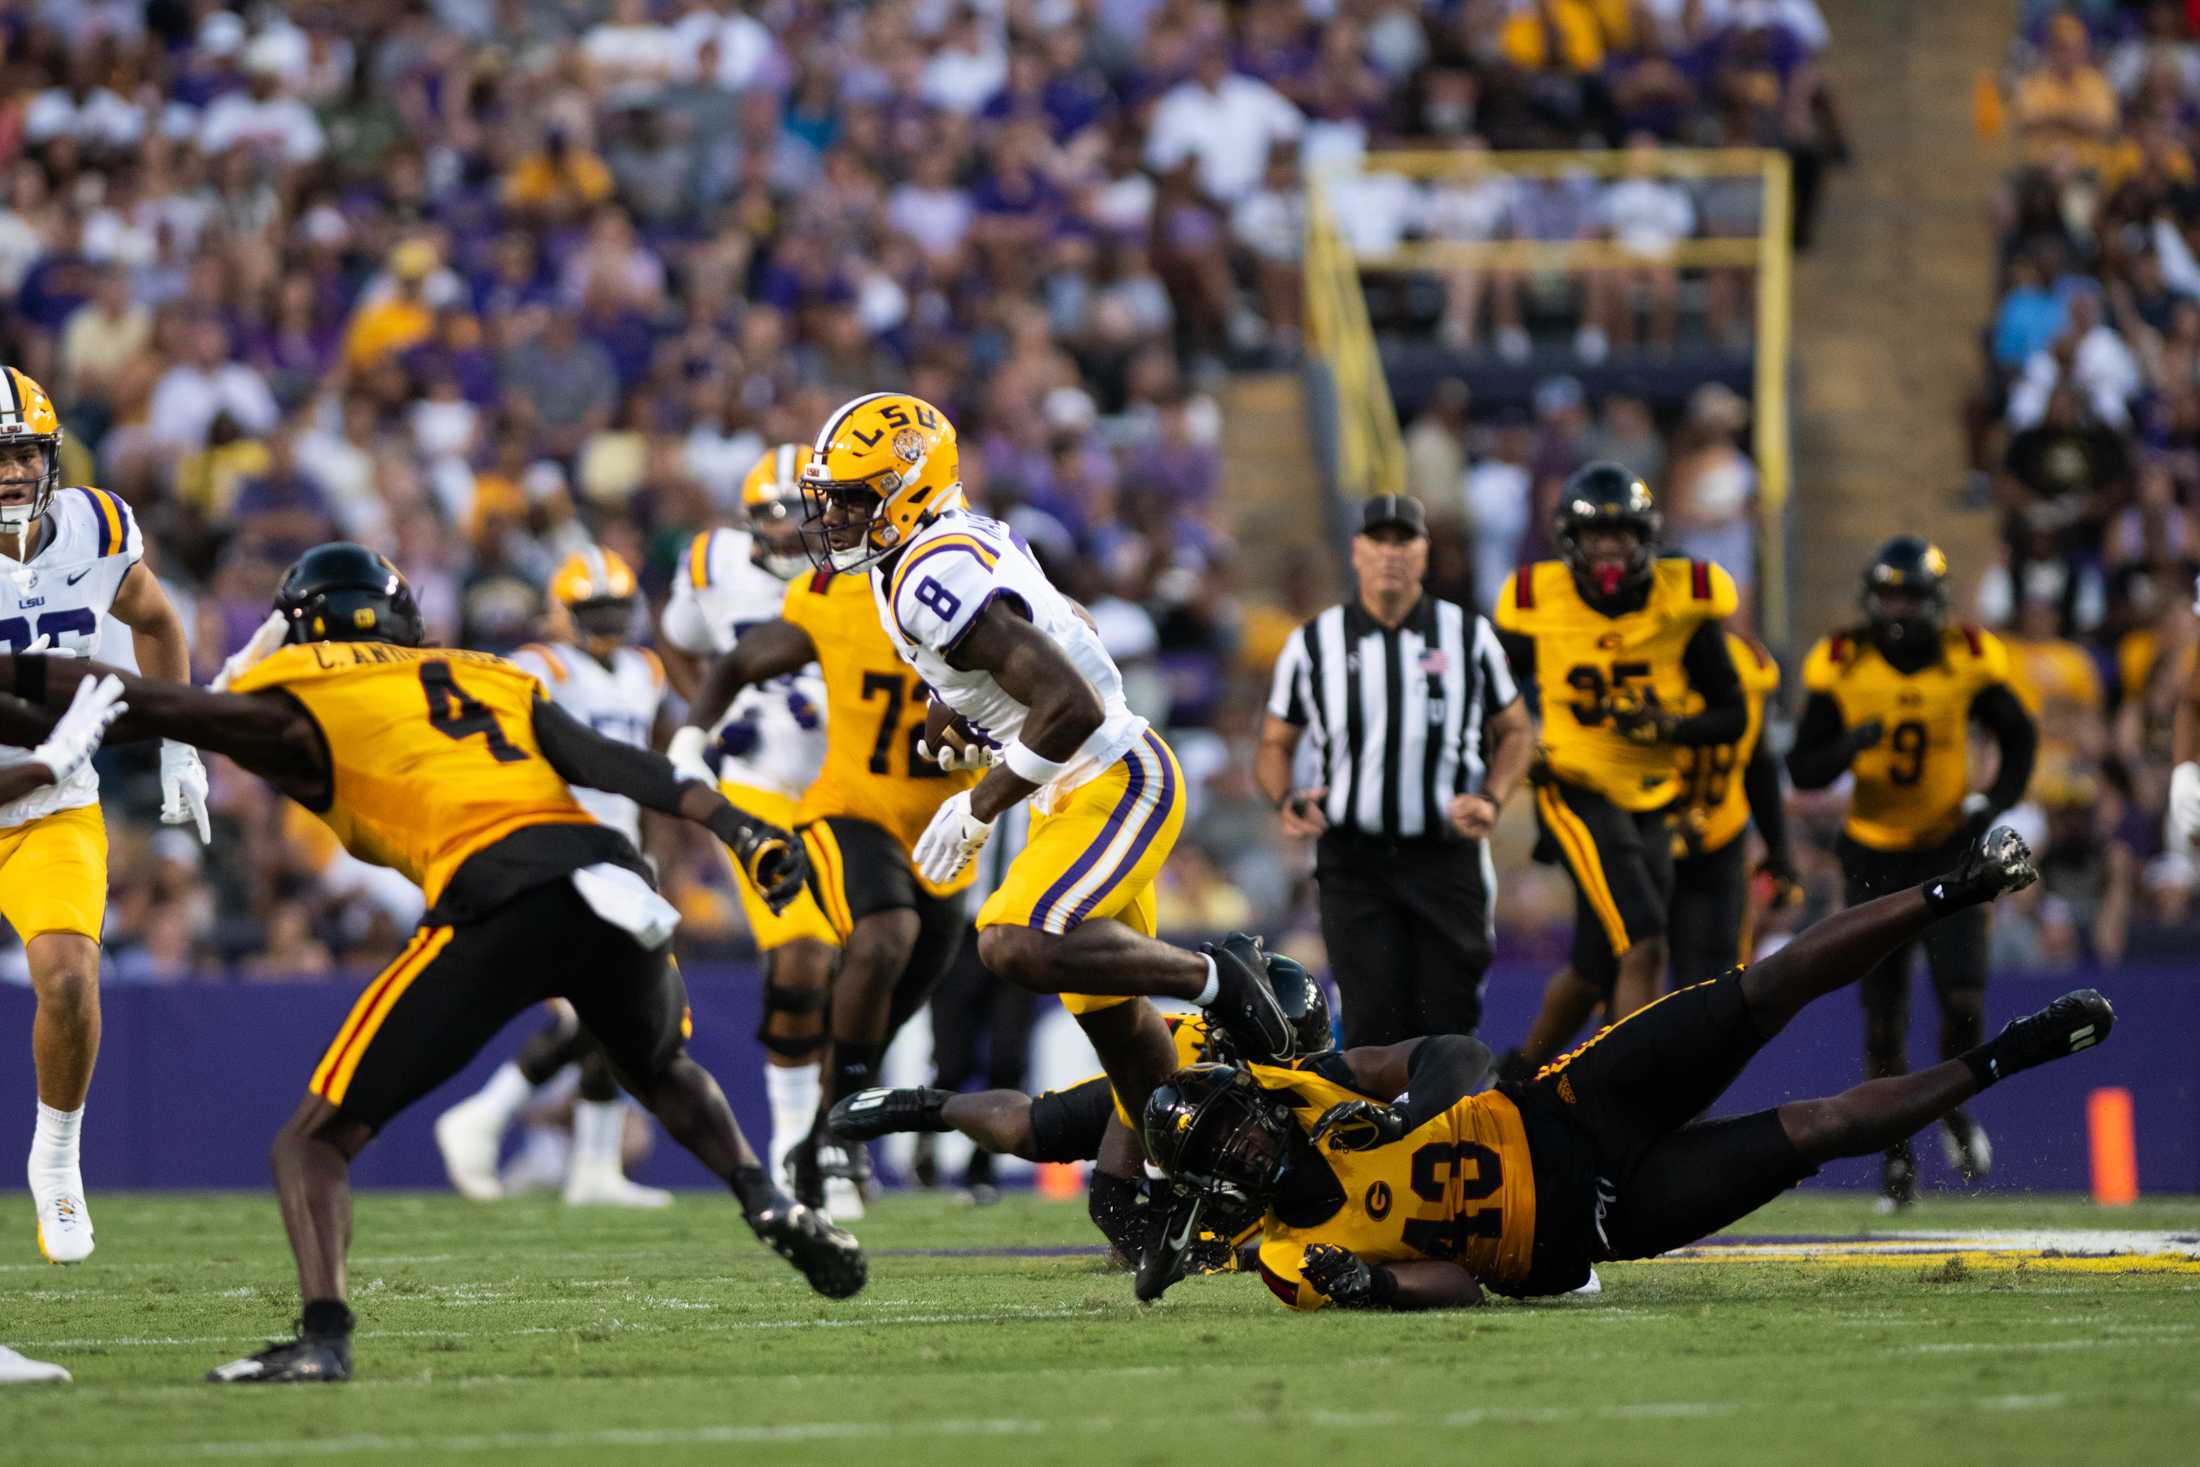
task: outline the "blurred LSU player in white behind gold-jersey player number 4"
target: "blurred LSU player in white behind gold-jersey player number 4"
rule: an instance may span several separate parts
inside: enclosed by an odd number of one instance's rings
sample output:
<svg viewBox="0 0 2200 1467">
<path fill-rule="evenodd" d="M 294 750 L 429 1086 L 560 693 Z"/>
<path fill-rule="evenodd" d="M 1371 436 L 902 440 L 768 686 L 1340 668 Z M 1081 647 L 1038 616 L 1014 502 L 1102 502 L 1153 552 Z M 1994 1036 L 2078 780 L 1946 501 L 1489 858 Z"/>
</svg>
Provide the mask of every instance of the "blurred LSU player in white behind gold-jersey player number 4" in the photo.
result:
<svg viewBox="0 0 2200 1467">
<path fill-rule="evenodd" d="M 640 625 L 634 570 L 614 552 L 590 548 L 565 556 L 550 576 L 548 640 L 528 642 L 510 655 L 535 673 L 565 713 L 596 732 L 636 748 L 662 743 L 664 664 L 647 647 L 634 644 Z M 634 849 L 642 849 L 642 809 L 623 794 L 574 790 L 581 807 L 609 825 Z M 495 1201 L 497 1148 L 506 1128 L 537 1089 L 568 1065 L 581 1067 L 572 1106 L 572 1161 L 565 1168 L 565 1203 L 576 1207 L 669 1207 L 673 1194 L 629 1181 L 623 1166 L 627 1102 L 609 1065 L 579 1016 L 563 999 L 550 1003 L 552 1018 L 521 1045 L 519 1056 L 497 1067 L 475 1095 L 436 1117 L 436 1146 L 460 1194 Z"/>
</svg>

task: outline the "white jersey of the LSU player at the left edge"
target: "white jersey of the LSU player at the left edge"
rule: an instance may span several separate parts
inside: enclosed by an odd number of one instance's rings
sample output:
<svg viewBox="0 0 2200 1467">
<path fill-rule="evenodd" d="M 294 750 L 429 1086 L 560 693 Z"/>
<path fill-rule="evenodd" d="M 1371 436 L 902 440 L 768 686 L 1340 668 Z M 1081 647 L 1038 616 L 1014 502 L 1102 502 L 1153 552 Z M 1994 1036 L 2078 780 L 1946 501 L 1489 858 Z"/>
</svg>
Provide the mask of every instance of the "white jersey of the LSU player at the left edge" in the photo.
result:
<svg viewBox="0 0 2200 1467">
<path fill-rule="evenodd" d="M 103 488 L 55 490 L 46 530 L 53 539 L 29 565 L 0 556 L 0 642 L 20 651 L 44 633 L 46 647 L 97 658 L 99 618 L 145 559 L 145 537 L 121 495 Z M 31 750 L 0 743 L 0 768 L 26 759 Z M 86 763 L 59 785 L 0 805 L 0 829 L 97 803 L 99 776 Z"/>
</svg>

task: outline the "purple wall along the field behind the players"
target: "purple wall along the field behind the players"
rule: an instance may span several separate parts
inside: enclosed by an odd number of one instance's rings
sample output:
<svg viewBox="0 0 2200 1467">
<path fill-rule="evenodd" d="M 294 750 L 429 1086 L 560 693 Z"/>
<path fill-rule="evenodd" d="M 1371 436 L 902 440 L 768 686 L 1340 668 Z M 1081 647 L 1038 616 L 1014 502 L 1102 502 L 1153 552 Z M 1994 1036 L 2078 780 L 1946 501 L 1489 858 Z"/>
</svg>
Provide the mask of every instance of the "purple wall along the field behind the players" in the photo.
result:
<svg viewBox="0 0 2200 1467">
<path fill-rule="evenodd" d="M 724 1082 L 750 1137 L 766 1130 L 759 1051 L 750 1040 L 757 979 L 746 968 L 702 968 L 689 974 L 695 1007 L 695 1054 Z M 2132 1091 L 2138 1130 L 2138 1179 L 2145 1192 L 2200 1192 L 2200 981 L 2191 970 L 2132 968 L 2105 974 L 1998 979 L 1989 1023 L 2028 1012 L 2059 992 L 2097 983 L 2116 1003 L 2116 1036 L 2101 1056 L 2057 1065 L 1987 1095 L 1978 1115 L 1993 1133 L 1995 1185 L 2086 1190 L 2086 1093 L 2099 1084 Z M 1487 1034 L 1527 1027 L 1542 988 L 1540 970 L 1498 968 L 1489 983 Z M 297 1104 L 321 1045 L 343 1023 L 356 990 L 319 985 L 183 985 L 110 988 L 106 1043 L 92 1087 L 86 1135 L 86 1183 L 97 1196 L 112 1188 L 260 1188 L 266 1144 Z M 1936 1054 L 1932 1001 L 1912 1005 L 1912 1054 Z M 464 1076 L 429 1095 L 359 1161 L 361 1185 L 442 1185 L 429 1124 L 436 1113 L 480 1084 L 510 1054 L 519 1021 Z M 31 994 L 0 990 L 0 1047 L 11 1056 L 0 1115 L 31 1117 Z M 1773 1043 L 1720 1113 L 1738 1113 L 1797 1095 L 1822 1095 L 1857 1082 L 1861 1016 L 1848 996 L 1804 1014 Z M 1060 1082 L 1069 1076 L 1043 1076 Z M 1938 1146 L 1921 1148 L 1927 1177 L 1938 1177 Z M 684 1152 L 660 1146 L 645 1181 L 708 1185 Z M 1815 1185 L 1874 1183 L 1870 1161 L 1826 1168 Z"/>
</svg>

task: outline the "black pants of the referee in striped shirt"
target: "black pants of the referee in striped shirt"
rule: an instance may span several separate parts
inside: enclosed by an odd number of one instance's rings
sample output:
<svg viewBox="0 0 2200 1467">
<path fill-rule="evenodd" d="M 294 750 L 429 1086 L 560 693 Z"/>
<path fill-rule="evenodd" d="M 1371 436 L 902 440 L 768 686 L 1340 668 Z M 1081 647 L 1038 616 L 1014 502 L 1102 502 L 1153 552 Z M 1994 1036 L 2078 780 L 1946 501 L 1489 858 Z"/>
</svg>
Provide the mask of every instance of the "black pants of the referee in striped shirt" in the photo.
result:
<svg viewBox="0 0 2200 1467">
<path fill-rule="evenodd" d="M 1478 840 L 1320 838 L 1322 944 L 1344 1005 L 1344 1047 L 1474 1034 L 1489 974 L 1489 889 Z"/>
</svg>

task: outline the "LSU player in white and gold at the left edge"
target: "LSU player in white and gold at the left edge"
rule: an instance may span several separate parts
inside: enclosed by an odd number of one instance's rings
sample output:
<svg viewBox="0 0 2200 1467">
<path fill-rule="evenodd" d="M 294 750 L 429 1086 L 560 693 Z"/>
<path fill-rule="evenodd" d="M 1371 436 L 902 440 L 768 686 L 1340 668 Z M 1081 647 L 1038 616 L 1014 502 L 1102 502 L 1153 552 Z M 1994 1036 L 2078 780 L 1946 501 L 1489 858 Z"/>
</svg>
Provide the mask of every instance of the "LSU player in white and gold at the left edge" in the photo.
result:
<svg viewBox="0 0 2200 1467">
<path fill-rule="evenodd" d="M 121 497 L 59 488 L 62 420 L 53 398 L 0 367 L 0 644 L 90 658 L 99 618 L 130 627 L 145 677 L 189 682 L 183 618 L 143 565 L 145 539 Z M 0 746 L 0 768 L 31 750 Z M 187 743 L 161 743 L 161 818 L 207 827 L 207 772 Z M 0 803 L 0 915 L 15 928 L 37 990 L 31 1054 L 37 1128 L 29 1181 L 37 1247 L 51 1262 L 92 1254 L 79 1133 L 99 1058 L 99 930 L 108 908 L 108 827 L 90 763 Z"/>
</svg>

